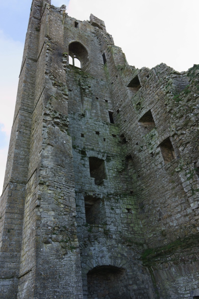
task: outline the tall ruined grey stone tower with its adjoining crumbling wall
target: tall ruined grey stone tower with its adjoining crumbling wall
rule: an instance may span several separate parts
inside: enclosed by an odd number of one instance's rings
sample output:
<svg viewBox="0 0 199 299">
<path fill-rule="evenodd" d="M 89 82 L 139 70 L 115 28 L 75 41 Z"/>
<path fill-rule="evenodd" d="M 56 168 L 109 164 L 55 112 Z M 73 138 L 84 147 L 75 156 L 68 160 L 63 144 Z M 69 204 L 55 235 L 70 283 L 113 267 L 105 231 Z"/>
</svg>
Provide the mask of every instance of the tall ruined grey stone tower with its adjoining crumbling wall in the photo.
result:
<svg viewBox="0 0 199 299">
<path fill-rule="evenodd" d="M 136 69 L 103 21 L 33 0 L 1 299 L 199 298 L 198 74 Z"/>
</svg>

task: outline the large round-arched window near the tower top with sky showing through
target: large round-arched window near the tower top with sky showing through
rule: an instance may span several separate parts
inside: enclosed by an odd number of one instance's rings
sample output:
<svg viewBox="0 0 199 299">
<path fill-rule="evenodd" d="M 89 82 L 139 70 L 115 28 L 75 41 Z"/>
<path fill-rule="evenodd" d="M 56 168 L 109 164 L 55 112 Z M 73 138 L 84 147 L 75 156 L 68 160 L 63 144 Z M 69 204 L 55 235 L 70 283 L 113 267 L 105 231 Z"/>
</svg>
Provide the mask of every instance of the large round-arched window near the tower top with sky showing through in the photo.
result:
<svg viewBox="0 0 199 299">
<path fill-rule="evenodd" d="M 79 42 L 72 42 L 69 45 L 69 64 L 85 72 L 90 72 L 88 52 Z"/>
</svg>

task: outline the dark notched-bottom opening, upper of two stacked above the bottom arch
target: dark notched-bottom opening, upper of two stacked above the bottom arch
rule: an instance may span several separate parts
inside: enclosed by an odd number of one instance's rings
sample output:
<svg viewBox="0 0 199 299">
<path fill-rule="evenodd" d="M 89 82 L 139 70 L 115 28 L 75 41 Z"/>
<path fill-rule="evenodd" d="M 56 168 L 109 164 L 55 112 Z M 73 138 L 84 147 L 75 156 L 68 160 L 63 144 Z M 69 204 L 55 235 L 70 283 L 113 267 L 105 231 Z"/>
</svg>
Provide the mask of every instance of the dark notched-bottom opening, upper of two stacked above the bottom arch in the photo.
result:
<svg viewBox="0 0 199 299">
<path fill-rule="evenodd" d="M 104 160 L 89 157 L 90 176 L 95 179 L 95 185 L 101 185 L 106 179 L 106 170 Z"/>
</svg>

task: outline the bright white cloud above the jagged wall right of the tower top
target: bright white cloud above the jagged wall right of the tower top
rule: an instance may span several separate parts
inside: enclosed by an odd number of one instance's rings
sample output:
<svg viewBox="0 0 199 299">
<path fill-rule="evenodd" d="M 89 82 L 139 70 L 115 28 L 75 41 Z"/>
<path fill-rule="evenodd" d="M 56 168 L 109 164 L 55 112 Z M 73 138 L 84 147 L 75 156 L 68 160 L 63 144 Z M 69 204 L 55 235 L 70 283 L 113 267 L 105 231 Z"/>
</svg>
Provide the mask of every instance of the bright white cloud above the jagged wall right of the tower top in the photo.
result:
<svg viewBox="0 0 199 299">
<path fill-rule="evenodd" d="M 149 68 L 165 62 L 177 71 L 199 63 L 199 2 L 190 0 L 70 0 L 68 15 L 105 22 L 130 65 Z"/>
</svg>

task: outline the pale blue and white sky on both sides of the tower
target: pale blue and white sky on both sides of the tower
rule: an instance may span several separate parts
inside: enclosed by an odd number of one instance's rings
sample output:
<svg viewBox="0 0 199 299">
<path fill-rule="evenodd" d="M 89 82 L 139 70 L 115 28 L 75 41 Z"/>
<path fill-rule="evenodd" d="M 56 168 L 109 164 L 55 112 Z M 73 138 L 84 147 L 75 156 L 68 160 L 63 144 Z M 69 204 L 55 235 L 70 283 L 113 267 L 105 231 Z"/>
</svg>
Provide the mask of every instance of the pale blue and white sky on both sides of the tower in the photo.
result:
<svg viewBox="0 0 199 299">
<path fill-rule="evenodd" d="M 16 101 L 18 76 L 32 0 L 0 6 L 0 193 Z M 77 20 L 90 13 L 105 22 L 129 65 L 152 68 L 161 62 L 176 71 L 199 64 L 198 0 L 51 0 Z"/>
</svg>

